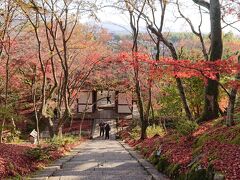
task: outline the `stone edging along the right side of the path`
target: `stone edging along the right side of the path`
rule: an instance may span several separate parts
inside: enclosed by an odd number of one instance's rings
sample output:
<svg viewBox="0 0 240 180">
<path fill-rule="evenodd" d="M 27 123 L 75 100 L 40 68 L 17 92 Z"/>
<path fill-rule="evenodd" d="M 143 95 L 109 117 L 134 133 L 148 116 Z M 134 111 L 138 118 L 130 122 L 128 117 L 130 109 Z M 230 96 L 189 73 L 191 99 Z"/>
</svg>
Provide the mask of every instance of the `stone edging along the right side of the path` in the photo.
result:
<svg viewBox="0 0 240 180">
<path fill-rule="evenodd" d="M 123 146 L 124 149 L 138 161 L 138 163 L 148 172 L 149 175 L 152 176 L 153 180 L 169 180 L 168 177 L 160 173 L 150 162 L 146 159 L 142 158 L 140 154 L 138 154 L 132 147 L 126 144 L 122 140 L 118 140 L 118 142 Z"/>
</svg>

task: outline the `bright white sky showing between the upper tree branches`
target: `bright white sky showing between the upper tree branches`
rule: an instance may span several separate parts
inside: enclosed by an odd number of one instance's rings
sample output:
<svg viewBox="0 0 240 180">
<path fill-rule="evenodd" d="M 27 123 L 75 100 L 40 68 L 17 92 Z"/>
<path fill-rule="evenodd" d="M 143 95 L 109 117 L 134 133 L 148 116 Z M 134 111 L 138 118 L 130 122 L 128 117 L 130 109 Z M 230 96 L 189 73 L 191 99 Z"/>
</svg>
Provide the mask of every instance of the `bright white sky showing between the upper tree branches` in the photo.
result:
<svg viewBox="0 0 240 180">
<path fill-rule="evenodd" d="M 195 27 L 198 27 L 200 22 L 200 15 L 198 11 L 198 6 L 192 3 L 192 0 L 181 0 L 181 7 L 183 14 L 191 19 L 192 23 Z M 129 28 L 129 20 L 128 14 L 122 13 L 113 8 L 104 8 L 98 14 L 98 18 L 100 19 L 100 24 L 103 24 L 103 27 L 107 27 L 114 30 L 121 30 L 124 28 Z M 230 19 L 230 18 L 229 18 Z M 231 21 L 229 21 L 231 22 Z M 110 26 L 110 24 L 113 24 Z M 119 26 L 119 27 L 118 27 Z M 145 28 L 146 23 L 144 21 L 141 22 L 140 26 L 142 29 Z M 224 26 L 224 24 L 222 25 Z M 236 27 L 240 27 L 240 23 L 235 25 Z M 124 28 L 122 28 L 124 27 Z M 209 14 L 203 12 L 203 23 L 201 28 L 203 33 L 210 32 L 210 22 L 209 22 Z M 166 10 L 166 18 L 164 23 L 164 31 L 166 32 L 190 32 L 191 29 L 185 20 L 179 18 L 179 14 L 175 5 L 168 5 Z M 233 28 L 224 28 L 224 32 L 232 31 L 235 34 L 239 34 L 238 31 Z M 240 34 L 239 34 L 240 35 Z"/>
</svg>

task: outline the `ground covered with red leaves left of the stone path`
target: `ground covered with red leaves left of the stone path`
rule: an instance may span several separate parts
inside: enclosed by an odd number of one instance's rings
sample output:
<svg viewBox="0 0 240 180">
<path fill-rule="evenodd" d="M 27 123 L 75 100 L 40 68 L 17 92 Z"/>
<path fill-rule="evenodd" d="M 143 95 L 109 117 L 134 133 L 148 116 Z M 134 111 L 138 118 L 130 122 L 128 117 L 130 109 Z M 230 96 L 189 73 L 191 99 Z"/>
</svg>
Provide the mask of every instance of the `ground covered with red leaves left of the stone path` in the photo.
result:
<svg viewBox="0 0 240 180">
<path fill-rule="evenodd" d="M 30 174 L 66 154 L 81 143 L 76 138 L 55 138 L 41 146 L 0 144 L 0 179 Z"/>
</svg>

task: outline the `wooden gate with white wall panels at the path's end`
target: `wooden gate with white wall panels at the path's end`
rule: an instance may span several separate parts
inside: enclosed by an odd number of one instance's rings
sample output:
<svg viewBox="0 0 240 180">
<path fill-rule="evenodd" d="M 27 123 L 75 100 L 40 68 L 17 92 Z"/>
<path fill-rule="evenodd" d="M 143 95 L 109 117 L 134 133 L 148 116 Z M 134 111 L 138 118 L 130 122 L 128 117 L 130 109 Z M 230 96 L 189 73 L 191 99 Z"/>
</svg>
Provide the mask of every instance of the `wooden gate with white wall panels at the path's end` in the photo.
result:
<svg viewBox="0 0 240 180">
<path fill-rule="evenodd" d="M 73 112 L 76 118 L 130 119 L 132 118 L 132 93 L 119 91 L 80 91 Z"/>
</svg>

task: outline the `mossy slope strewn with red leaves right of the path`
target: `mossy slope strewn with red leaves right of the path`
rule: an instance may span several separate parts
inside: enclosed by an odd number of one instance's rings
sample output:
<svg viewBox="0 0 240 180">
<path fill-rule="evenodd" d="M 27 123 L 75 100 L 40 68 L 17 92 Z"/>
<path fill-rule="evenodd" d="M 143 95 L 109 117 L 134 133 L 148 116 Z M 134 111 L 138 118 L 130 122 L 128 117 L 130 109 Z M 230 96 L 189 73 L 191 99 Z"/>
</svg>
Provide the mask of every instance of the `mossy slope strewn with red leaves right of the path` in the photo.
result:
<svg viewBox="0 0 240 180">
<path fill-rule="evenodd" d="M 141 141 L 125 129 L 120 136 L 172 179 L 239 179 L 240 123 L 226 127 L 217 119 L 181 132 L 171 129 Z"/>
</svg>

